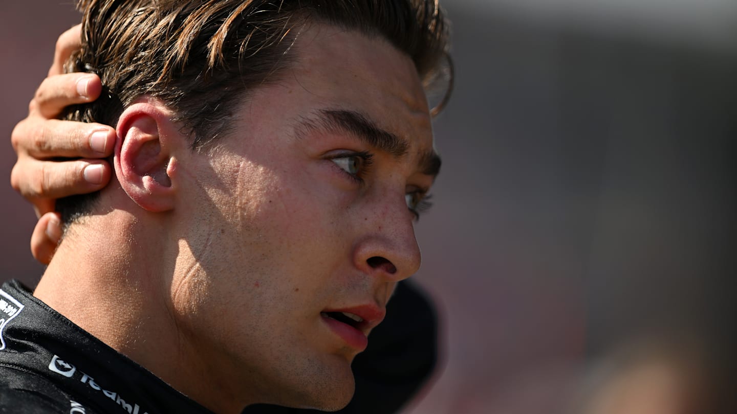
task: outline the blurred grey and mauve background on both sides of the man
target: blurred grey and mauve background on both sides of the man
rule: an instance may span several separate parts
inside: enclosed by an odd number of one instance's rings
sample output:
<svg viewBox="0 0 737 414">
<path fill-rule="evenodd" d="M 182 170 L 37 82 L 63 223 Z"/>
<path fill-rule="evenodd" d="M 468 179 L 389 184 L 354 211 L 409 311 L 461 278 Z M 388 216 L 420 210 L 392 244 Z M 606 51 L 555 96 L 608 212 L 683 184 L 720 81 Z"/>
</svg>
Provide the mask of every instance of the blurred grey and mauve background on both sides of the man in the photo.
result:
<svg viewBox="0 0 737 414">
<path fill-rule="evenodd" d="M 405 413 L 716 413 L 737 385 L 737 1 L 441 3 L 456 82 L 415 280 L 442 355 Z M 78 20 L 0 2 L 0 274 L 32 286 L 10 132 Z"/>
</svg>

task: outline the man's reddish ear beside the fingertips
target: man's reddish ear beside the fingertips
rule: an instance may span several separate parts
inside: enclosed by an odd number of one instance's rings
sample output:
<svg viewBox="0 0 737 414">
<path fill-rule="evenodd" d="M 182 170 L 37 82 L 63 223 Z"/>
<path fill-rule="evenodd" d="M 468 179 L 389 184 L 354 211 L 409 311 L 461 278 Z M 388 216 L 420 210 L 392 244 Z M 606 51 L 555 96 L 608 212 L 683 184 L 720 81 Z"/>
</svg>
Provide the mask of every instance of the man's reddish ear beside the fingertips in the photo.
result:
<svg viewBox="0 0 737 414">
<path fill-rule="evenodd" d="M 169 211 L 175 205 L 175 152 L 184 138 L 172 112 L 160 101 L 144 97 L 118 119 L 115 173 L 131 200 L 147 211 Z"/>
</svg>

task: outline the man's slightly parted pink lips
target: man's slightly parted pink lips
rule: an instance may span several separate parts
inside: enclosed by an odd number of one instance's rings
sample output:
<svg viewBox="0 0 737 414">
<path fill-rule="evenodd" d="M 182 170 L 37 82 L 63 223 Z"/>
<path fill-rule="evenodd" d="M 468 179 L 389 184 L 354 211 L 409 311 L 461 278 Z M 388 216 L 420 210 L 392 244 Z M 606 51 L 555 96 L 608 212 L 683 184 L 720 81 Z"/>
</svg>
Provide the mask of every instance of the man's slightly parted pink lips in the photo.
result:
<svg viewBox="0 0 737 414">
<path fill-rule="evenodd" d="M 381 323 L 386 311 L 379 306 L 362 305 L 325 309 L 320 315 L 330 329 L 350 347 L 363 351 L 368 345 L 368 333 Z"/>
</svg>

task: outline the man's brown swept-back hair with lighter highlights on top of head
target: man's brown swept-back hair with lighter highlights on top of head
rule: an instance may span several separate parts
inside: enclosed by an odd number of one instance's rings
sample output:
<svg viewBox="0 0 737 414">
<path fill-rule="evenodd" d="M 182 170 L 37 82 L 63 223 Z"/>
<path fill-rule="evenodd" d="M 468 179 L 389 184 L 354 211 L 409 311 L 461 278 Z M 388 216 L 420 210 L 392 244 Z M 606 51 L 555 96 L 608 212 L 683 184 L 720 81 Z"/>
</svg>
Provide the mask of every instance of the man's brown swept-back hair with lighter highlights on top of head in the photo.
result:
<svg viewBox="0 0 737 414">
<path fill-rule="evenodd" d="M 228 128 L 248 91 L 279 80 L 304 24 L 325 23 L 385 38 L 410 56 L 425 84 L 439 79 L 448 25 L 437 0 L 80 0 L 82 47 L 66 71 L 99 75 L 99 99 L 66 119 L 114 124 L 142 95 L 165 102 L 192 149 Z M 97 194 L 59 200 L 67 224 Z"/>
</svg>

